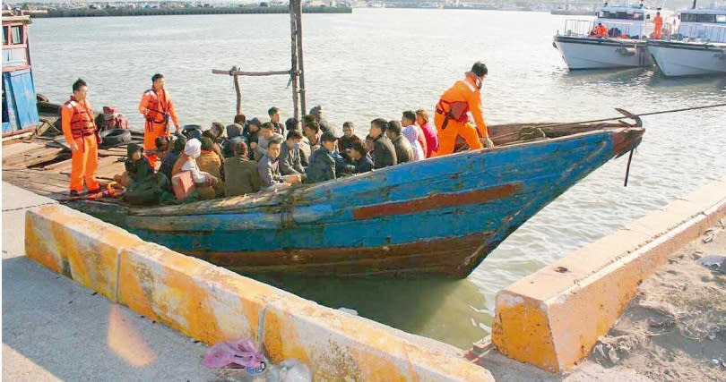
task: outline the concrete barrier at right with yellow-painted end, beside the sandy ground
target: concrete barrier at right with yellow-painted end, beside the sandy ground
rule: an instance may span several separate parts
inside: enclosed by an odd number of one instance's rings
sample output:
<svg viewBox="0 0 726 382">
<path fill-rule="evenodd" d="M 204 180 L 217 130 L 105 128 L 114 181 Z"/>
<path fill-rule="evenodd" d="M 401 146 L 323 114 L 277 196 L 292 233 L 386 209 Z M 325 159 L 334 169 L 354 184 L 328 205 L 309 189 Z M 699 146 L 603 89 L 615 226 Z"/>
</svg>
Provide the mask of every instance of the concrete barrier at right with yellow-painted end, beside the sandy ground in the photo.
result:
<svg viewBox="0 0 726 382">
<path fill-rule="evenodd" d="M 726 216 L 726 179 L 627 225 L 497 293 L 492 343 L 517 361 L 571 369 L 671 253 Z"/>
</svg>

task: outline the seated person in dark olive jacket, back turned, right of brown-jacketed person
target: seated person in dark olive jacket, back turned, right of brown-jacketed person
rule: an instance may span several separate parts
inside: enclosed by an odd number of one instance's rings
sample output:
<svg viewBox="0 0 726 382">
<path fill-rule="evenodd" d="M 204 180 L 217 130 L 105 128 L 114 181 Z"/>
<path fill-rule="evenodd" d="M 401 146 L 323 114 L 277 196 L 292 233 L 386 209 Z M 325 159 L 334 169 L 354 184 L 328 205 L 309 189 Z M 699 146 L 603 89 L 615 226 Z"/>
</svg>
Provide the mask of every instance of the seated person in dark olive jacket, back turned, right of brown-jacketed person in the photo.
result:
<svg viewBox="0 0 726 382">
<path fill-rule="evenodd" d="M 240 140 L 232 149 L 234 157 L 224 160 L 224 195 L 238 196 L 260 191 L 262 181 L 257 164 L 247 157 L 247 144 Z"/>
</svg>

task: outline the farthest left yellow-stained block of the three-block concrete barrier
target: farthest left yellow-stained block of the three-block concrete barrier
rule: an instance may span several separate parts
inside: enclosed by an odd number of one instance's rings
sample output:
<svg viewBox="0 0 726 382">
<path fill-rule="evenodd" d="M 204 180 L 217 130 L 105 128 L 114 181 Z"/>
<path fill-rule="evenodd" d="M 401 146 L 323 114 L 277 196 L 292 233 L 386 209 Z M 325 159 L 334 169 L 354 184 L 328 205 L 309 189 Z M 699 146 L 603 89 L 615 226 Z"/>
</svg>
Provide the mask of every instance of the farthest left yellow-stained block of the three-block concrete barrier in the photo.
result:
<svg viewBox="0 0 726 382">
<path fill-rule="evenodd" d="M 140 242 L 131 233 L 64 206 L 26 216 L 26 256 L 111 301 L 116 301 L 119 251 Z"/>
</svg>

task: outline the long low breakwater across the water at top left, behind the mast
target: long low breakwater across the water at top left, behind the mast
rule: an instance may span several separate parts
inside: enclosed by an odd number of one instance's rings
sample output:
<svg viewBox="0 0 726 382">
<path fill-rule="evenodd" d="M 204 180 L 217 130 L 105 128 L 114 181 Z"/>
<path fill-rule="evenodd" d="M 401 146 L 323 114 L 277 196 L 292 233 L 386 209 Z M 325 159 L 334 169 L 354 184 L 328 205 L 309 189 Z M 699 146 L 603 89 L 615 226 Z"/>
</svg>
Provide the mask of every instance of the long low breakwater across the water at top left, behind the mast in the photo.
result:
<svg viewBox="0 0 726 382">
<path fill-rule="evenodd" d="M 48 13 L 33 13 L 34 19 L 50 17 L 112 17 L 112 16 L 171 16 L 185 14 L 267 14 L 290 13 L 288 6 L 255 7 L 199 7 L 199 8 L 141 8 L 141 9 L 62 9 L 48 10 Z M 353 13 L 350 6 L 306 6 L 303 13 Z"/>
</svg>

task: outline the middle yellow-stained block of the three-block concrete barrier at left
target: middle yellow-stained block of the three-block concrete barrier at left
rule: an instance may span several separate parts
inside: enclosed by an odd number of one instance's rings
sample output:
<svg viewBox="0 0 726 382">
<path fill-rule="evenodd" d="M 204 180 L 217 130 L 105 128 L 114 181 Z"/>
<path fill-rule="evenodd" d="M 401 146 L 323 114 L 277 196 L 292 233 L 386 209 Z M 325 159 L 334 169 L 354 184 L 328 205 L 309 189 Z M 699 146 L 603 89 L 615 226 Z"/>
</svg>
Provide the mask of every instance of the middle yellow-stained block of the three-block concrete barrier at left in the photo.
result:
<svg viewBox="0 0 726 382">
<path fill-rule="evenodd" d="M 118 301 L 206 344 L 256 339 L 260 312 L 283 294 L 160 245 L 121 252 Z"/>
</svg>

